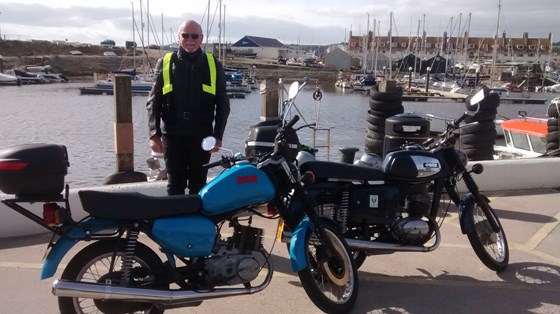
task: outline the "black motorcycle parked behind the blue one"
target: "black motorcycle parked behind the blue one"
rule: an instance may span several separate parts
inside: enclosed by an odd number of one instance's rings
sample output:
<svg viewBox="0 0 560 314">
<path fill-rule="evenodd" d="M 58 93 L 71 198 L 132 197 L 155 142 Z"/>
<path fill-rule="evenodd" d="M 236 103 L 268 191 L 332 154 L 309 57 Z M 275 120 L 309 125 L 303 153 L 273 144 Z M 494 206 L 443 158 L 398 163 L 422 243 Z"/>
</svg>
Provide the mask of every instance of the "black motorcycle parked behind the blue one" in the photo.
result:
<svg viewBox="0 0 560 314">
<path fill-rule="evenodd" d="M 441 243 L 440 226 L 453 203 L 461 231 L 484 265 L 495 271 L 506 269 L 505 232 L 473 178 L 473 173 L 483 172 L 483 166 L 477 163 L 467 169 L 467 155 L 455 147 L 454 131 L 478 112 L 487 94 L 483 89 L 473 96 L 467 105 L 471 111 L 449 123 L 437 138 L 404 143 L 372 166 L 314 158 L 299 165 L 302 174 L 314 178 L 305 189 L 317 200 L 317 212 L 336 222 L 358 267 L 368 255 L 435 250 Z M 460 181 L 469 193 L 460 195 Z"/>
</svg>

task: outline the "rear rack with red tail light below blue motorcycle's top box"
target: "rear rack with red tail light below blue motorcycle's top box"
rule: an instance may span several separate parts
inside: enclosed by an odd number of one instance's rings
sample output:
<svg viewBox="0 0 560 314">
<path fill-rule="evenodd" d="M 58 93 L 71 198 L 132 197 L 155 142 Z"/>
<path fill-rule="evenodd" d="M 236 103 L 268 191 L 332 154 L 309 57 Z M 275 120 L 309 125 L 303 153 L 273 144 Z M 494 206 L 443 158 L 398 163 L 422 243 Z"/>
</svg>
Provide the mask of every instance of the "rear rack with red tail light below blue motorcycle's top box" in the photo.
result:
<svg viewBox="0 0 560 314">
<path fill-rule="evenodd" d="M 62 227 L 69 222 L 73 222 L 70 212 L 70 203 L 68 201 L 69 186 L 66 184 L 64 196 L 62 194 L 55 195 L 18 195 L 15 198 L 1 200 L 6 206 L 37 223 L 38 225 L 54 232 L 58 235 L 63 233 Z M 32 213 L 29 209 L 19 205 L 19 203 L 38 203 L 43 202 L 43 217 Z M 64 203 L 65 207 L 55 203 Z M 51 205 L 47 207 L 47 205 Z"/>
</svg>

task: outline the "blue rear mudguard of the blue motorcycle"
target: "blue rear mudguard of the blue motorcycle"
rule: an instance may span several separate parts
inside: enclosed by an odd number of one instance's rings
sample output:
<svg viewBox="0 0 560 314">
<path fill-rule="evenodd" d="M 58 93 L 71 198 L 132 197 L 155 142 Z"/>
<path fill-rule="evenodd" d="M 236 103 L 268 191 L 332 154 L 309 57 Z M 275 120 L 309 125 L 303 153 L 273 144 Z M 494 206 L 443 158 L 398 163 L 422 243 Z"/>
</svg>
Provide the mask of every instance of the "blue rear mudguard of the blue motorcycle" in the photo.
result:
<svg viewBox="0 0 560 314">
<path fill-rule="evenodd" d="M 101 232 L 107 234 L 108 228 L 116 230 L 116 226 L 116 222 L 112 220 L 90 219 L 70 228 L 53 244 L 43 261 L 41 280 L 54 276 L 62 258 L 78 241 L 89 239 L 91 235 Z"/>
</svg>

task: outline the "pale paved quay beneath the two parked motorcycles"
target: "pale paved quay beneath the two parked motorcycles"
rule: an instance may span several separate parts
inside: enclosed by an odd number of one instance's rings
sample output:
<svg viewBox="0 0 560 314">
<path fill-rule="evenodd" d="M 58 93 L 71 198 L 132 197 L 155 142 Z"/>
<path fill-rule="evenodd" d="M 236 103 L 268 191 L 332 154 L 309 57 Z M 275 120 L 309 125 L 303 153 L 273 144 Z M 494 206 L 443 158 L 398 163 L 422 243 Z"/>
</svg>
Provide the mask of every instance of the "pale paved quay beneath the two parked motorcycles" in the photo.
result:
<svg viewBox="0 0 560 314">
<path fill-rule="evenodd" d="M 451 212 L 436 251 L 366 260 L 359 271 L 360 294 L 352 313 L 560 313 L 560 191 L 487 195 L 509 242 L 506 271 L 497 274 L 478 260 L 460 232 L 457 213 Z M 275 221 L 259 221 L 255 226 L 265 227 L 270 248 Z M 50 289 L 54 278 L 39 280 L 48 239 L 43 234 L 0 241 L 0 313 L 58 313 Z M 290 270 L 285 245 L 276 243 L 273 254 L 274 278 L 264 291 L 166 313 L 319 313 Z"/>
</svg>

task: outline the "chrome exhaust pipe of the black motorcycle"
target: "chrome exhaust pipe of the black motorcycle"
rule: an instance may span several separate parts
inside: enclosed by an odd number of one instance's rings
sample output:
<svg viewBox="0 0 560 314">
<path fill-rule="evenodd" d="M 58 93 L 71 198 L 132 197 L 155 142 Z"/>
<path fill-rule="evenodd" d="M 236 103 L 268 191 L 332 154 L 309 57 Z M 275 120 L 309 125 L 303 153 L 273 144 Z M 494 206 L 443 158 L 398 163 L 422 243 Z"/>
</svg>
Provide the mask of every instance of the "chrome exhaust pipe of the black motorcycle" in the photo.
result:
<svg viewBox="0 0 560 314">
<path fill-rule="evenodd" d="M 282 242 L 289 243 L 292 233 L 282 232 Z M 373 253 L 375 251 L 390 252 L 431 252 L 437 249 L 441 243 L 439 229 L 436 229 L 436 242 L 432 246 L 402 245 L 399 243 L 374 242 L 367 240 L 357 240 L 345 238 L 348 248 L 352 251 L 365 251 Z"/>
</svg>

